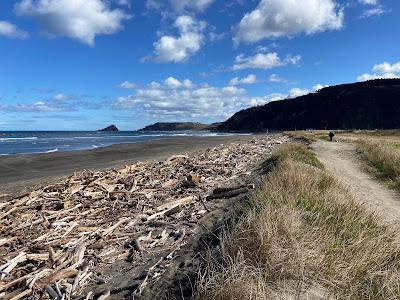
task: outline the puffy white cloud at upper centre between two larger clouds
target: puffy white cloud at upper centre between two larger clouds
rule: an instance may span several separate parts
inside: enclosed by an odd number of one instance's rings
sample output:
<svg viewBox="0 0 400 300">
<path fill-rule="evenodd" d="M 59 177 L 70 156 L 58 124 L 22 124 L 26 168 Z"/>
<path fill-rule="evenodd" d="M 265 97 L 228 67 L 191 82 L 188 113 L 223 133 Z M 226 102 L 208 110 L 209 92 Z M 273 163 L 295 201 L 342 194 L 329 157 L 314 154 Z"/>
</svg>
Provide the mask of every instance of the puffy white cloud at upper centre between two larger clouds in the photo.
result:
<svg viewBox="0 0 400 300">
<path fill-rule="evenodd" d="M 160 62 L 184 62 L 200 50 L 204 42 L 206 23 L 191 16 L 179 16 L 175 21 L 180 35 L 164 35 L 154 43 L 156 60 Z"/>
</svg>

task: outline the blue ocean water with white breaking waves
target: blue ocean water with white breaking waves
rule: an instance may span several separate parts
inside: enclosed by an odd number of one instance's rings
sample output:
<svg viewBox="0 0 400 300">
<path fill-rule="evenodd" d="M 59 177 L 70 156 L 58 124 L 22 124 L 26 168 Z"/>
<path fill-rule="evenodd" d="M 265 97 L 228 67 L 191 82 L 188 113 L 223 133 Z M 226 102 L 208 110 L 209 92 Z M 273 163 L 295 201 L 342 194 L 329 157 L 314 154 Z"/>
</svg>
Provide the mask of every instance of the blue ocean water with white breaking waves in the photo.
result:
<svg viewBox="0 0 400 300">
<path fill-rule="evenodd" d="M 210 131 L 6 131 L 0 132 L 0 155 L 51 153 L 107 147 L 178 136 L 221 136 Z"/>
</svg>

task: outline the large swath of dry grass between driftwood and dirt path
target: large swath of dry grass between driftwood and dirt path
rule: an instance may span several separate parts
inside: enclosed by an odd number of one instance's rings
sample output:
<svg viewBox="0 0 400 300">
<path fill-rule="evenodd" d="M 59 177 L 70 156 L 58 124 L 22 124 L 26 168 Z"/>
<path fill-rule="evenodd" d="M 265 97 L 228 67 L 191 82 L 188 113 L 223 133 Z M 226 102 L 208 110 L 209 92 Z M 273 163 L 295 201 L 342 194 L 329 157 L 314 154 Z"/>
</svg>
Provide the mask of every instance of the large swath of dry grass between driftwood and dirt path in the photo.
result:
<svg viewBox="0 0 400 300">
<path fill-rule="evenodd" d="M 221 237 L 196 299 L 399 299 L 393 234 L 315 160 L 299 144 L 272 158 L 250 210 Z"/>
</svg>

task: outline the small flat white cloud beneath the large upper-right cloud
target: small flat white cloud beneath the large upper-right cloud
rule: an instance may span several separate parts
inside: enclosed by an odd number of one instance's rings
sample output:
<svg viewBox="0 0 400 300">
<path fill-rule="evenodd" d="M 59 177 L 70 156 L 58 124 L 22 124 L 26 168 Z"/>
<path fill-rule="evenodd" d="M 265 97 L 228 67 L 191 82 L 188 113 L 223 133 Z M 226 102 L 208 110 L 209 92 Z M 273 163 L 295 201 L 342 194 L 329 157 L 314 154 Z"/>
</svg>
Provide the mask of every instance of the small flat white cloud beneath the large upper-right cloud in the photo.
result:
<svg viewBox="0 0 400 300">
<path fill-rule="evenodd" d="M 285 66 L 288 64 L 297 64 L 301 59 L 300 55 L 291 56 L 281 59 L 276 52 L 258 53 L 254 56 L 245 57 L 243 54 L 236 56 L 234 70 L 243 69 L 272 69 Z"/>
</svg>

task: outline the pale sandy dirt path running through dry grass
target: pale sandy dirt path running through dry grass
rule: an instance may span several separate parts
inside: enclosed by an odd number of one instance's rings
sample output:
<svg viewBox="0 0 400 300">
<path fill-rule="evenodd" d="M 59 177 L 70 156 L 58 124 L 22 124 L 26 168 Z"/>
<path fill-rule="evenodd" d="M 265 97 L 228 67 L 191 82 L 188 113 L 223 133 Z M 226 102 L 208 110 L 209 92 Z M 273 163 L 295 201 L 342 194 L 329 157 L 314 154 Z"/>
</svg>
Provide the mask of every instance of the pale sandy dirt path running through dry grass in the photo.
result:
<svg viewBox="0 0 400 300">
<path fill-rule="evenodd" d="M 395 231 L 400 230 L 400 195 L 363 170 L 350 143 L 318 141 L 313 144 L 313 149 L 326 168 L 350 188 L 357 200 L 365 203 Z"/>
</svg>

